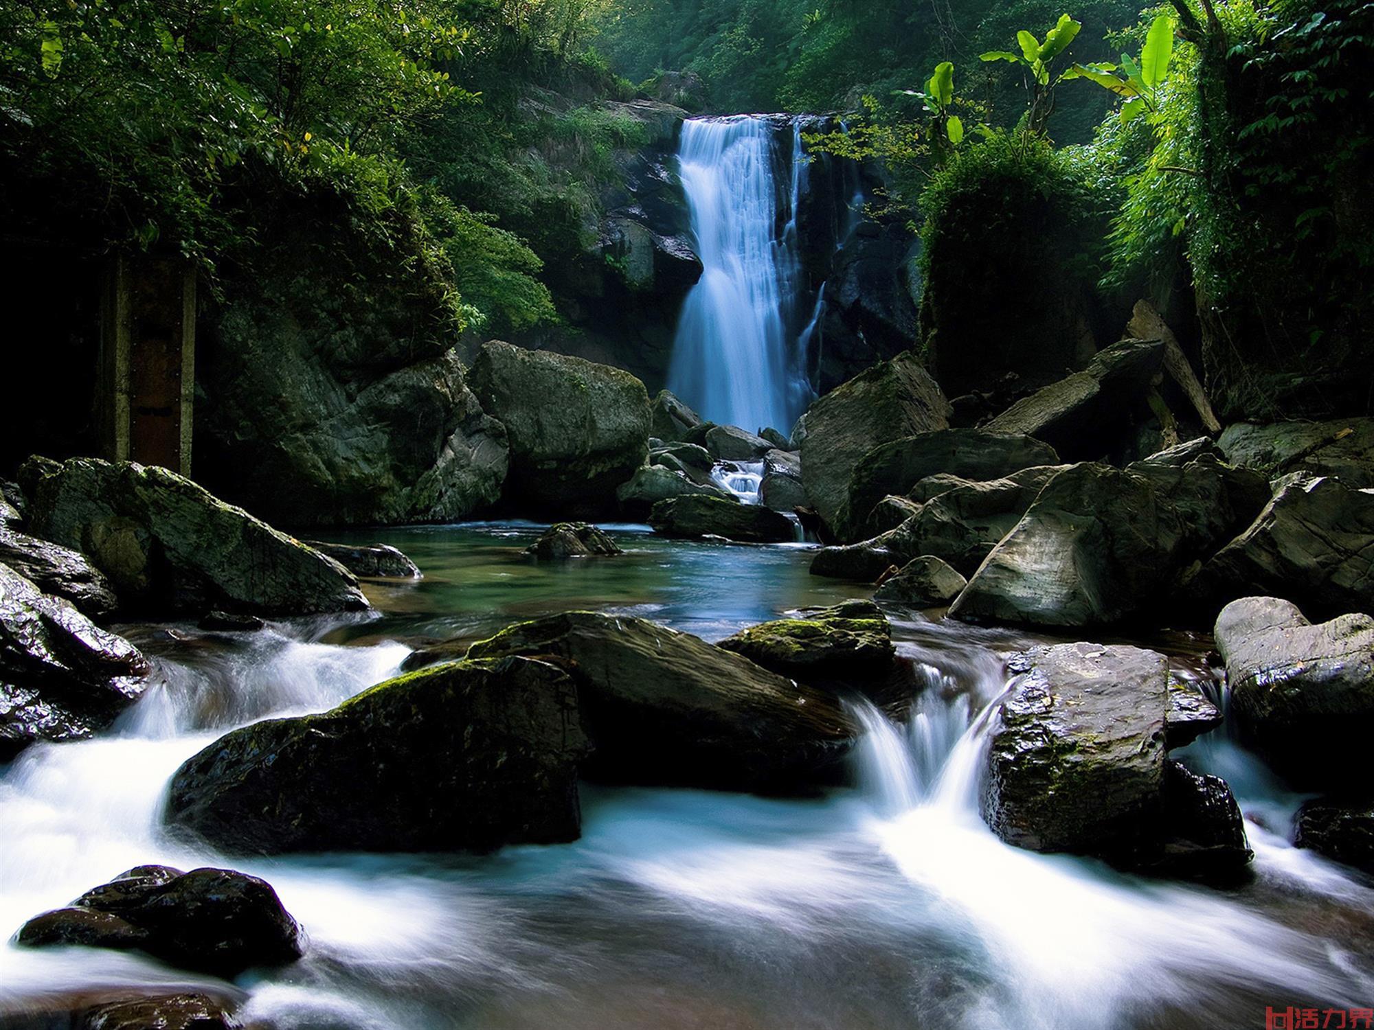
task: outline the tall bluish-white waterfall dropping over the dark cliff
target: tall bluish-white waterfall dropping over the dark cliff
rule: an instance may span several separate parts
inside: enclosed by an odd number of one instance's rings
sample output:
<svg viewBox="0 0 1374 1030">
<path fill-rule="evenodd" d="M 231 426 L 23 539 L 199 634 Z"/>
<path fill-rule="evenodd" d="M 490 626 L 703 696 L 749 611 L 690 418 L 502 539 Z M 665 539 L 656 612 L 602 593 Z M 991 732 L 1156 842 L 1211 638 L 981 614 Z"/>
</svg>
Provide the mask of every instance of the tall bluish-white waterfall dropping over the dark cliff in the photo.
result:
<svg viewBox="0 0 1374 1030">
<path fill-rule="evenodd" d="M 768 119 L 691 118 L 677 151 L 703 271 L 677 323 L 668 389 L 706 419 L 750 431 L 786 433 L 812 396 L 796 331 L 807 169 L 801 126 L 791 129 L 786 192 L 774 177 Z"/>
</svg>

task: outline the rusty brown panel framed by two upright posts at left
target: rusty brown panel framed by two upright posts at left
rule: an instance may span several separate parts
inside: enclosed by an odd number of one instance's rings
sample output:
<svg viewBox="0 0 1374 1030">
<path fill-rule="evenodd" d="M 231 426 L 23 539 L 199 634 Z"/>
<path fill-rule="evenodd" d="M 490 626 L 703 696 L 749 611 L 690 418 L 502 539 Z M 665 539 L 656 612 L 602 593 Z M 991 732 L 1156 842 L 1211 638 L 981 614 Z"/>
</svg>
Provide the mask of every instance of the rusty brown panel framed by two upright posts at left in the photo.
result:
<svg viewBox="0 0 1374 1030">
<path fill-rule="evenodd" d="M 195 398 L 195 268 L 115 257 L 100 317 L 100 449 L 191 474 Z"/>
</svg>

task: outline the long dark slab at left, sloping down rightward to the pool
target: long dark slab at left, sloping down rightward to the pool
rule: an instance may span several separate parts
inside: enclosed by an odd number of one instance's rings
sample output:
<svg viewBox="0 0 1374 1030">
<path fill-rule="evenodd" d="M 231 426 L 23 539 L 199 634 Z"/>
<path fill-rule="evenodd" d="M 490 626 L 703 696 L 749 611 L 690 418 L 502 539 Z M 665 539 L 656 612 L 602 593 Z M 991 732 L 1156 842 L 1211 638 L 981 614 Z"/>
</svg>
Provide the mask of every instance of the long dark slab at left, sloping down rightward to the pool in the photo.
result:
<svg viewBox="0 0 1374 1030">
<path fill-rule="evenodd" d="M 23 471 L 34 534 L 87 555 L 131 611 L 368 607 L 341 564 L 166 468 L 74 457 Z"/>
</svg>

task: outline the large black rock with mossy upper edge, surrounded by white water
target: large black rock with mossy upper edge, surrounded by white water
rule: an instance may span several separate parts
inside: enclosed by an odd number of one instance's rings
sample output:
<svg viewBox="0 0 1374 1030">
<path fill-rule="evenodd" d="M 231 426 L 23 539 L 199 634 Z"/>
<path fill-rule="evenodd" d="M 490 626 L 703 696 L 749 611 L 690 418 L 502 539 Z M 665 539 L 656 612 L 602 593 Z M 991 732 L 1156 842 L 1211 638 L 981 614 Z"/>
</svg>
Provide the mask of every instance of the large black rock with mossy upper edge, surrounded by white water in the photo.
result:
<svg viewBox="0 0 1374 1030">
<path fill-rule="evenodd" d="M 231 853 L 558 843 L 588 750 L 561 669 L 451 662 L 227 733 L 177 769 L 164 819 Z"/>
</svg>

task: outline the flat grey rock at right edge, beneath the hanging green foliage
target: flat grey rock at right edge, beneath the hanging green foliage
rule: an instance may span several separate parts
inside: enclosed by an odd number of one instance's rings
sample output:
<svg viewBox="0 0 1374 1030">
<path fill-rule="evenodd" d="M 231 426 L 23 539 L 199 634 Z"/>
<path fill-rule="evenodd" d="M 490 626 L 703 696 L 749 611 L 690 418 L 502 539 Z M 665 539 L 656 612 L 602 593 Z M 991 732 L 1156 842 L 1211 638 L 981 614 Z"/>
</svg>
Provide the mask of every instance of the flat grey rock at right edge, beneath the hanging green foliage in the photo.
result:
<svg viewBox="0 0 1374 1030">
<path fill-rule="evenodd" d="M 1353 489 L 1374 488 L 1374 419 L 1227 426 L 1217 441 L 1228 461 L 1270 478 L 1334 475 Z"/>
</svg>

